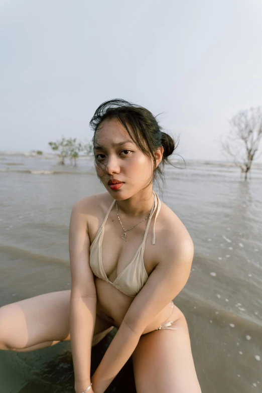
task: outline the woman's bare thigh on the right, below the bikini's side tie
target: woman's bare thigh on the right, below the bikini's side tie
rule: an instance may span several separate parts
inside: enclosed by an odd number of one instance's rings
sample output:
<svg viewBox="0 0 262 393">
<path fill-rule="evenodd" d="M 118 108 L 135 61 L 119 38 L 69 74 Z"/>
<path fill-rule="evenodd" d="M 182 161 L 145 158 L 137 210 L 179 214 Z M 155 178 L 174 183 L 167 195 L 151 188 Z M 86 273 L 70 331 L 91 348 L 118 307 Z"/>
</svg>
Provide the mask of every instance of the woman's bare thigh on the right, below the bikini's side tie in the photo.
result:
<svg viewBox="0 0 262 393">
<path fill-rule="evenodd" d="M 184 315 L 180 330 L 156 330 L 141 336 L 132 355 L 137 393 L 201 393 Z"/>
</svg>

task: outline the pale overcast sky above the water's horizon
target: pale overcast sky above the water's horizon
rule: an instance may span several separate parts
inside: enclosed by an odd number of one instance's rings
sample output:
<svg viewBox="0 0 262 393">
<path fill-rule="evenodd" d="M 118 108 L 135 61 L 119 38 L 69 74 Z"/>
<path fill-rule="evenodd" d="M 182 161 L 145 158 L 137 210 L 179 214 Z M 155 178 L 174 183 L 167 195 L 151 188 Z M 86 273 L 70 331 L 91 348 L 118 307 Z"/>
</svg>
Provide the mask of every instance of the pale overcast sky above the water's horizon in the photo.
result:
<svg viewBox="0 0 262 393">
<path fill-rule="evenodd" d="M 147 107 L 184 159 L 262 105 L 261 0 L 0 0 L 0 150 L 88 141 L 103 101 Z M 262 143 L 261 143 L 262 145 Z M 260 150 L 262 146 L 260 146 Z M 261 161 L 261 158 L 259 159 Z"/>
</svg>

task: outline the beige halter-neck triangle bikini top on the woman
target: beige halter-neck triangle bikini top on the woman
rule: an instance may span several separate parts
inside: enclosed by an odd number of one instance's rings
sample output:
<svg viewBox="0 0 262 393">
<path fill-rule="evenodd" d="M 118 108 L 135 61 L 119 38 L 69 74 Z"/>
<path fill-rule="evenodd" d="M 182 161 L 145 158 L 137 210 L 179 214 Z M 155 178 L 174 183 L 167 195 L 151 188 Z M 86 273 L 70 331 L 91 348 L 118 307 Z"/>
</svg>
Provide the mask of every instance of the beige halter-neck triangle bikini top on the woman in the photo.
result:
<svg viewBox="0 0 262 393">
<path fill-rule="evenodd" d="M 109 207 L 106 216 L 104 218 L 104 221 L 100 226 L 100 228 L 98 229 L 95 238 L 90 246 L 89 263 L 93 274 L 99 279 L 102 279 L 107 283 L 113 285 L 116 289 L 118 289 L 118 291 L 133 298 L 139 293 L 139 291 L 143 288 L 143 286 L 146 284 L 146 281 L 148 280 L 148 274 L 146 272 L 145 265 L 144 265 L 145 243 L 146 243 L 146 238 L 148 235 L 152 216 L 155 210 L 157 209 L 155 222 L 153 226 L 153 239 L 152 239 L 152 244 L 155 244 L 155 225 L 156 225 L 157 216 L 161 209 L 161 201 L 155 191 L 153 191 L 153 194 L 154 194 L 154 203 L 150 212 L 143 242 L 142 244 L 140 244 L 132 261 L 126 266 L 126 268 L 124 268 L 124 270 L 116 277 L 116 279 L 113 282 L 108 280 L 103 268 L 102 241 L 104 236 L 104 225 L 115 203 L 115 199 L 113 200 L 111 206 Z"/>
</svg>

